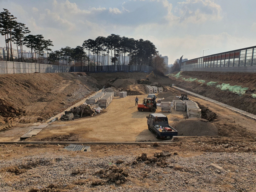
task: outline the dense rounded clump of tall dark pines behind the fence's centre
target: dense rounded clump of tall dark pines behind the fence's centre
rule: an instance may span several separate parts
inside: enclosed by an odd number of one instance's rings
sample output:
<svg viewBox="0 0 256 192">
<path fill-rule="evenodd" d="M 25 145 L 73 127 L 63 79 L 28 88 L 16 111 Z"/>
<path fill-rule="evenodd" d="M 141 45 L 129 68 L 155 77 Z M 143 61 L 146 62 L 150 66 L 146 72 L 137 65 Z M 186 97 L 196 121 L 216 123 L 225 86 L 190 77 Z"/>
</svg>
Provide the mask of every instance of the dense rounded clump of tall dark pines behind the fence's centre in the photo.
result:
<svg viewBox="0 0 256 192">
<path fill-rule="evenodd" d="M 94 66 L 95 55 L 97 55 L 97 65 L 100 64 L 99 56 L 108 56 L 111 54 L 111 64 L 124 65 L 125 57 L 129 56 L 129 64 L 138 65 L 150 65 L 152 64 L 152 58 L 156 56 L 156 46 L 149 40 L 135 40 L 134 38 L 121 37 L 120 35 L 111 34 L 110 36 L 103 37 L 98 36 L 96 39 L 85 40 L 82 46 L 94 55 Z M 124 58 L 123 61 L 120 57 Z M 121 63 L 122 62 L 122 63 Z M 88 59 L 89 63 L 89 59 Z M 108 60 L 109 63 L 109 60 Z M 102 58 L 102 65 L 104 60 Z"/>
</svg>

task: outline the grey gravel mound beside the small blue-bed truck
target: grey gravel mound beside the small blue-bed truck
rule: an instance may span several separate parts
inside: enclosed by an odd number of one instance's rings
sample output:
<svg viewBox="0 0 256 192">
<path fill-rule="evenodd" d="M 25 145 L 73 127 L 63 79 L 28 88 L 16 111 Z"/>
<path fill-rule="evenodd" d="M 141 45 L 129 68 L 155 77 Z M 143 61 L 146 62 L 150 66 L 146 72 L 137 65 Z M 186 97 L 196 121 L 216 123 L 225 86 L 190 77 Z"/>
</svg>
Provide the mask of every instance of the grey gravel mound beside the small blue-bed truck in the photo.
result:
<svg viewBox="0 0 256 192">
<path fill-rule="evenodd" d="M 204 120 L 205 121 L 205 120 Z M 178 136 L 217 136 L 218 129 L 210 122 L 203 122 L 200 118 L 182 120 L 173 125 Z"/>
</svg>

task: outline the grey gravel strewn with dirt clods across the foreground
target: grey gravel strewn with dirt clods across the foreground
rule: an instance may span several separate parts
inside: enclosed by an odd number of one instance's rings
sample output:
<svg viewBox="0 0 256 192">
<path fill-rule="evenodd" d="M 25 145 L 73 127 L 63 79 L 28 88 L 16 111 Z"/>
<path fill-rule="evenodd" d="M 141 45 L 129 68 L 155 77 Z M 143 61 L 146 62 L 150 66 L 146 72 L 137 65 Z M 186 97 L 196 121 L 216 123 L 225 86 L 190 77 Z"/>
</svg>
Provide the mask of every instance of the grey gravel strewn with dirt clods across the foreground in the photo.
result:
<svg viewBox="0 0 256 192">
<path fill-rule="evenodd" d="M 72 152 L 70 152 L 72 154 Z M 166 166 L 152 162 L 132 162 L 136 156 L 84 157 L 82 153 L 60 155 L 48 153 L 1 160 L 0 191 L 51 192 L 153 192 L 153 191 L 254 191 L 256 188 L 256 158 L 254 153 L 205 153 L 192 157 L 171 155 Z M 47 160 L 50 164 L 35 164 L 26 172 L 14 174 L 4 168 L 22 163 Z M 117 159 L 124 163 L 113 165 Z M 220 166 L 210 166 L 212 163 Z M 113 170 L 115 171 L 111 171 Z M 124 172 L 124 183 L 112 179 Z M 113 173 L 113 174 L 112 174 Z"/>
</svg>

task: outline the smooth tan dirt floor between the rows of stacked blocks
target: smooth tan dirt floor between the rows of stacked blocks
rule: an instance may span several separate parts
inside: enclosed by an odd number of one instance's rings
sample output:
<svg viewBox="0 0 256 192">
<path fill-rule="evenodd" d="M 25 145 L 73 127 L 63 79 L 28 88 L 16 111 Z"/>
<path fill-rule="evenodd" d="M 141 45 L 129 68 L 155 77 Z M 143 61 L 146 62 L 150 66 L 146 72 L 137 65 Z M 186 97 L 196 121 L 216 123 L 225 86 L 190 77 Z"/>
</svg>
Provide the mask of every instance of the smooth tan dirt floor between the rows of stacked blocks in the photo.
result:
<svg viewBox="0 0 256 192">
<path fill-rule="evenodd" d="M 147 95 L 139 95 L 139 102 Z M 103 114 L 95 117 L 81 118 L 73 121 L 54 122 L 44 128 L 34 141 L 62 140 L 63 135 L 71 136 L 76 141 L 156 141 L 154 134 L 148 130 L 146 116 L 152 112 L 139 112 L 135 106 L 136 96 L 114 98 Z M 161 113 L 161 110 L 156 110 Z M 185 112 L 163 112 L 168 118 L 184 118 Z M 171 121 L 170 121 L 171 122 Z M 57 137 L 57 138 L 56 138 Z M 66 138 L 66 137 L 65 137 Z M 65 140 L 65 139 L 64 139 Z"/>
</svg>

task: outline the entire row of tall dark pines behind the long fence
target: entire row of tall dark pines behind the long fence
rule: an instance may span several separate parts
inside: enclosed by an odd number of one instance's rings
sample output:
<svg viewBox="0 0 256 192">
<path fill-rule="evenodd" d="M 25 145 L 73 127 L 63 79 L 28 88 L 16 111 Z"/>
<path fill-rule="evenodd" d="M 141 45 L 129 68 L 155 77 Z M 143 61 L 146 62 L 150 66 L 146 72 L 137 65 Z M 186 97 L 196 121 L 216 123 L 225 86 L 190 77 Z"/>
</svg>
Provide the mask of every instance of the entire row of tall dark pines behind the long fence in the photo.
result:
<svg viewBox="0 0 256 192">
<path fill-rule="evenodd" d="M 17 50 L 18 46 L 20 47 L 19 62 L 25 62 L 23 46 L 26 46 L 31 50 L 32 61 L 35 59 L 36 62 L 38 60 L 38 63 L 40 61 L 43 62 L 43 54 L 47 52 L 47 63 L 58 62 L 59 64 L 59 60 L 62 60 L 62 64 L 64 64 L 64 61 L 66 63 L 80 62 L 81 66 L 83 63 L 92 66 L 108 65 L 110 62 L 112 65 L 124 65 L 127 56 L 129 56 L 128 64 L 130 65 L 154 66 L 153 58 L 158 53 L 156 46 L 149 40 L 135 40 L 134 38 L 121 37 L 116 34 L 85 40 L 82 46 L 77 46 L 76 48 L 66 46 L 60 50 L 52 51 L 49 48 L 53 46 L 51 40 L 44 39 L 42 34 L 30 34 L 28 27 L 17 22 L 16 19 L 7 9 L 0 12 L 0 34 L 5 37 L 7 61 L 14 61 L 13 44 L 16 44 Z M 84 50 L 88 50 L 88 55 L 90 53 L 93 54 L 91 61 Z M 33 58 L 33 52 L 35 58 Z M 38 58 L 36 58 L 37 55 Z M 101 61 L 99 59 L 100 56 L 102 56 Z M 108 58 L 107 63 L 103 59 L 104 56 Z M 121 60 L 120 58 L 124 59 Z"/>
</svg>

